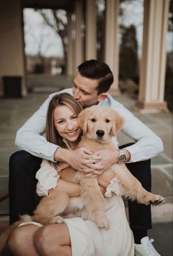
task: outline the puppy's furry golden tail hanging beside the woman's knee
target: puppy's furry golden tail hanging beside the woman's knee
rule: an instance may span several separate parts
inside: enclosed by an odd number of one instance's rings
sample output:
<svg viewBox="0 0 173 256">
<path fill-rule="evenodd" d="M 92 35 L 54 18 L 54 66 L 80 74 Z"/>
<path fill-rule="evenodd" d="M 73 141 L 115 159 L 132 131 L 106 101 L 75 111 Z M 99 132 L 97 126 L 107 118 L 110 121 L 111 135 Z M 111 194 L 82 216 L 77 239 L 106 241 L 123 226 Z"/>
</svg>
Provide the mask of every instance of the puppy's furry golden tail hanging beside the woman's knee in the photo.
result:
<svg viewBox="0 0 173 256">
<path fill-rule="evenodd" d="M 22 216 L 20 216 L 20 219 L 18 221 L 16 221 L 12 225 L 10 225 L 8 227 L 8 229 L 6 229 L 3 234 L 1 234 L 1 236 L 0 236 L 0 254 L 3 251 L 3 248 L 4 248 L 5 244 L 6 244 L 6 242 L 8 241 L 8 237 L 11 234 L 11 232 L 16 227 L 18 227 L 21 223 L 23 223 L 23 222 L 30 222 L 30 221 L 32 221 L 32 217 L 30 215 L 28 215 L 28 214 L 22 215 Z"/>
</svg>

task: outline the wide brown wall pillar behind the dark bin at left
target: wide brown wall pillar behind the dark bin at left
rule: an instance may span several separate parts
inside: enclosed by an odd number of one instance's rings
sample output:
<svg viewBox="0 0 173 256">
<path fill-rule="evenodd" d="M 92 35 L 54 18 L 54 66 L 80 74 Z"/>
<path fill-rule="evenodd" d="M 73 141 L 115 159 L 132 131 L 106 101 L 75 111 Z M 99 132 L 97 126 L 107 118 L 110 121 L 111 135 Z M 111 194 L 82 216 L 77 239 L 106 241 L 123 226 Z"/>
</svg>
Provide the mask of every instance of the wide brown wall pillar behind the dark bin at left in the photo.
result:
<svg viewBox="0 0 173 256">
<path fill-rule="evenodd" d="M 0 34 L 0 95 L 3 95 L 1 77 L 19 76 L 22 77 L 21 95 L 25 96 L 27 88 L 24 60 L 23 10 L 20 0 L 1 2 Z"/>
</svg>

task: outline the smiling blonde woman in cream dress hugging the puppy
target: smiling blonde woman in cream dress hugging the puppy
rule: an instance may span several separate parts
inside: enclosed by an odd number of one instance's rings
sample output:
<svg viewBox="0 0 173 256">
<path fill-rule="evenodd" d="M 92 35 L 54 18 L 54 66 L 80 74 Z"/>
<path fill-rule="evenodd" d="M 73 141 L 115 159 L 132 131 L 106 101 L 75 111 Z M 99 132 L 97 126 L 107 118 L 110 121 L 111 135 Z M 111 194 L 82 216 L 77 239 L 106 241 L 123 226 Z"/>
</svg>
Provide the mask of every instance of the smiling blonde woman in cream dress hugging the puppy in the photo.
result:
<svg viewBox="0 0 173 256">
<path fill-rule="evenodd" d="M 81 110 L 80 104 L 69 94 L 54 96 L 47 112 L 47 140 L 63 148 L 76 149 L 81 136 L 77 115 Z M 55 169 L 54 163 L 43 160 L 41 169 L 36 174 L 39 180 L 38 194 L 49 196 L 50 193 L 65 191 L 71 197 L 80 196 L 80 185 L 59 179 Z M 105 209 L 109 230 L 99 229 L 91 220 L 84 221 L 81 218 L 68 218 L 63 224 L 46 226 L 22 223 L 9 237 L 11 252 L 16 256 L 134 255 L 133 236 L 126 219 L 123 200 L 120 195 L 112 194 L 116 187 L 116 181 L 112 178 L 106 172 L 98 178 L 100 185 L 107 188 Z"/>
</svg>

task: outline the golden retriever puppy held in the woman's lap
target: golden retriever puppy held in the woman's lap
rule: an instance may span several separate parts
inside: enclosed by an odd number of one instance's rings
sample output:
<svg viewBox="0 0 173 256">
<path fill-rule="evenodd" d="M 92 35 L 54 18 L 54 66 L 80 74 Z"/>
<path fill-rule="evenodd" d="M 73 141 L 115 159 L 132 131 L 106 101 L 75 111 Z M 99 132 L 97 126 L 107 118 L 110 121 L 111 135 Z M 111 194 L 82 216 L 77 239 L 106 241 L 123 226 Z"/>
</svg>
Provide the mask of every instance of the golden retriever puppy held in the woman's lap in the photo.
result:
<svg viewBox="0 0 173 256">
<path fill-rule="evenodd" d="M 83 130 L 83 136 L 78 147 L 84 146 L 92 152 L 98 149 L 115 149 L 112 144 L 112 136 L 123 126 L 123 118 L 114 110 L 103 106 L 86 108 L 78 115 L 78 123 Z M 119 184 L 123 187 L 124 195 L 131 200 L 137 200 L 143 204 L 159 204 L 164 198 L 147 192 L 141 183 L 130 173 L 124 163 L 113 164 L 110 171 L 115 173 Z M 78 208 L 76 216 L 82 216 L 82 209 L 91 212 L 91 218 L 97 226 L 108 230 L 109 223 L 105 214 L 104 196 L 100 191 L 97 178 L 84 179 L 84 174 L 72 167 L 62 170 L 60 178 L 66 181 L 79 183 L 81 196 L 77 199 L 69 198 L 66 192 L 54 192 L 49 197 L 43 196 L 34 215 L 21 216 L 0 238 L 0 250 L 4 247 L 9 234 L 22 222 L 35 221 L 43 225 L 49 223 L 63 223 L 63 215 L 68 214 L 69 208 Z"/>
</svg>

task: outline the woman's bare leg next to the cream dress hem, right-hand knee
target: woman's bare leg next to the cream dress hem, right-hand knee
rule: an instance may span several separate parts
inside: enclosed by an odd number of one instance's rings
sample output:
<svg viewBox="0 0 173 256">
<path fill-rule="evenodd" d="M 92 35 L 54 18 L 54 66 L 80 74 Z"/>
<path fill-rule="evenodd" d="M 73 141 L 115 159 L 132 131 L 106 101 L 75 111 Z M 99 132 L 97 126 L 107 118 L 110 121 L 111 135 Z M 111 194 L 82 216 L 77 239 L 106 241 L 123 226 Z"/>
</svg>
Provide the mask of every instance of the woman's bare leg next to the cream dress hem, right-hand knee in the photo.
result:
<svg viewBox="0 0 173 256">
<path fill-rule="evenodd" d="M 41 227 L 35 233 L 34 245 L 42 256 L 72 256 L 70 234 L 65 223 Z"/>
</svg>

